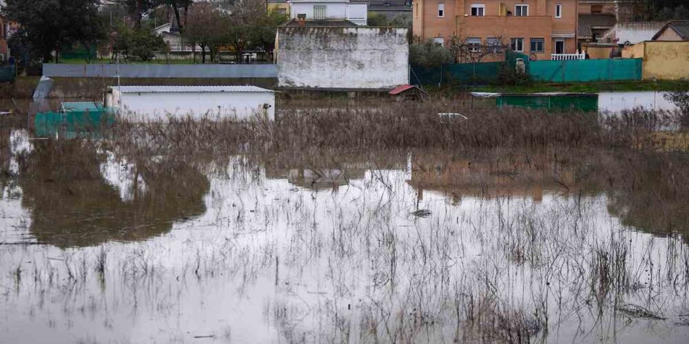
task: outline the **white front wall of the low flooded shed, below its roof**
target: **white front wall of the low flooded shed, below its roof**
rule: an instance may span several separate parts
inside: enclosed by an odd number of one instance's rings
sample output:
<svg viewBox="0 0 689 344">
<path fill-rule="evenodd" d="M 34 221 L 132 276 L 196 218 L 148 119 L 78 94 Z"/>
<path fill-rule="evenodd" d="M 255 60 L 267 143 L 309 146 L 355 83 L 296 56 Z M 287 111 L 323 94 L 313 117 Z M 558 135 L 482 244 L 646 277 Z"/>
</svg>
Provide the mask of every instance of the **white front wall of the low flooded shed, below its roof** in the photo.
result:
<svg viewBox="0 0 689 344">
<path fill-rule="evenodd" d="M 121 114 L 130 120 L 164 120 L 168 116 L 203 118 L 204 116 L 238 119 L 254 118 L 257 114 L 275 119 L 275 94 L 271 92 L 184 92 L 121 94 Z M 117 89 L 108 95 L 107 105 L 117 107 Z M 268 104 L 269 108 L 263 109 Z"/>
</svg>

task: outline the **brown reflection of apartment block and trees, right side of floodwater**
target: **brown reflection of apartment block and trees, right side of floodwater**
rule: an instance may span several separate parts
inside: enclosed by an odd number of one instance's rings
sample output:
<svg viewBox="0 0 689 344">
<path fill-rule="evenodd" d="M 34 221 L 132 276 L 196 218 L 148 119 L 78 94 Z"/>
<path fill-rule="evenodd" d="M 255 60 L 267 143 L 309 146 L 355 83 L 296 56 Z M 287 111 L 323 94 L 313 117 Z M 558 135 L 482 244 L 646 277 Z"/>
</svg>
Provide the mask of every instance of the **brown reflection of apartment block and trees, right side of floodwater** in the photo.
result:
<svg viewBox="0 0 689 344">
<path fill-rule="evenodd" d="M 463 197 L 544 194 L 608 197 L 608 211 L 626 226 L 655 235 L 681 233 L 689 242 L 689 157 L 635 151 L 464 153 L 415 155 L 409 184 Z"/>
</svg>

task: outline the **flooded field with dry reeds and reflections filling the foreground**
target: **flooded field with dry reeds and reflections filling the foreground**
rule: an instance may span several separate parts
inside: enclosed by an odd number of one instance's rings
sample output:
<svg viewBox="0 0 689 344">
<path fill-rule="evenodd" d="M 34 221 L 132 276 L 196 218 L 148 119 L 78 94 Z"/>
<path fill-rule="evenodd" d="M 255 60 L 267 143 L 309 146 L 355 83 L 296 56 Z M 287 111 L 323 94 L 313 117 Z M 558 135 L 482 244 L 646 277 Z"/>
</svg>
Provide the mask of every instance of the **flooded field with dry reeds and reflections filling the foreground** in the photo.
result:
<svg viewBox="0 0 689 344">
<path fill-rule="evenodd" d="M 286 121 L 3 122 L 0 343 L 689 341 L 686 153 Z"/>
</svg>

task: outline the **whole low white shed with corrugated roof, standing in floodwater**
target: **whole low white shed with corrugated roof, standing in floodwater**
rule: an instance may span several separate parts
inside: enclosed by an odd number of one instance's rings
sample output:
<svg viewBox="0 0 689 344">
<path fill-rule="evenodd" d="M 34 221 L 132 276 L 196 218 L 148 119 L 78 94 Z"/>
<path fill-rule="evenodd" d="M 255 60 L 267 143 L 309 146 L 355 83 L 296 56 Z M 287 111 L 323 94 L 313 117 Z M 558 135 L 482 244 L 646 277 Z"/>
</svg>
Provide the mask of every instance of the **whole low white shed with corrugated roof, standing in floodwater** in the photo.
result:
<svg viewBox="0 0 689 344">
<path fill-rule="evenodd" d="M 275 93 L 256 86 L 114 86 L 107 105 L 133 120 L 275 119 Z"/>
</svg>

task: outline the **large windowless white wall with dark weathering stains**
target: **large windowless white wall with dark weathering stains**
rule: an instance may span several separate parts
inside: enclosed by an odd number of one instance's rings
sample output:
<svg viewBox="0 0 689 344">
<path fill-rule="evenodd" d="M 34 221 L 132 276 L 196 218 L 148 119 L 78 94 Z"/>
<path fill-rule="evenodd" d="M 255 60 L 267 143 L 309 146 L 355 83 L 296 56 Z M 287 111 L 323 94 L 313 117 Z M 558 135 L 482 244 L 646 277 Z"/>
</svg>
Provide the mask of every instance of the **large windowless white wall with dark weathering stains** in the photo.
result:
<svg viewBox="0 0 689 344">
<path fill-rule="evenodd" d="M 405 28 L 278 29 L 278 85 L 392 89 L 409 83 Z"/>
</svg>

